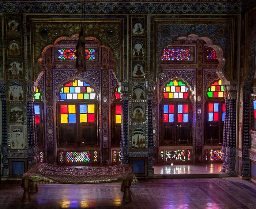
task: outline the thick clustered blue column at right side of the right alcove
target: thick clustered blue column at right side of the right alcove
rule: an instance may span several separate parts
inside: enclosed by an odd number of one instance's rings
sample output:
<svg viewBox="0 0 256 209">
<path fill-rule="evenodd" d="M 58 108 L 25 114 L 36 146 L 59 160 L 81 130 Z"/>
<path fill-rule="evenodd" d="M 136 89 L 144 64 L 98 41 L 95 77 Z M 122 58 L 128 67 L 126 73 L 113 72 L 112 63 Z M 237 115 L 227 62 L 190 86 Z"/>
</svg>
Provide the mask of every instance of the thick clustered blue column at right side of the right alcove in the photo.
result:
<svg viewBox="0 0 256 209">
<path fill-rule="evenodd" d="M 223 132 L 223 166 L 222 173 L 235 175 L 236 165 L 236 99 L 237 84 L 223 84 L 225 96 L 225 122 Z"/>
</svg>

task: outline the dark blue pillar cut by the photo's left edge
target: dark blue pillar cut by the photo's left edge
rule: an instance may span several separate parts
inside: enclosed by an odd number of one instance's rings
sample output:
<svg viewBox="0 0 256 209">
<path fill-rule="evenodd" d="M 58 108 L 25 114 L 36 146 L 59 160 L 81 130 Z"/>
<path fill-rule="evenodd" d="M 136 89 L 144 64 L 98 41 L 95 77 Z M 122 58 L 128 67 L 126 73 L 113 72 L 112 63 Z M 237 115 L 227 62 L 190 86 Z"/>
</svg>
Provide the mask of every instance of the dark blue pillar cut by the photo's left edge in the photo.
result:
<svg viewBox="0 0 256 209">
<path fill-rule="evenodd" d="M 2 102 L 2 177 L 9 176 L 8 168 L 8 142 L 7 142 L 7 115 L 6 115 L 6 96 L 4 83 L 0 84 L 0 99 Z"/>
</svg>

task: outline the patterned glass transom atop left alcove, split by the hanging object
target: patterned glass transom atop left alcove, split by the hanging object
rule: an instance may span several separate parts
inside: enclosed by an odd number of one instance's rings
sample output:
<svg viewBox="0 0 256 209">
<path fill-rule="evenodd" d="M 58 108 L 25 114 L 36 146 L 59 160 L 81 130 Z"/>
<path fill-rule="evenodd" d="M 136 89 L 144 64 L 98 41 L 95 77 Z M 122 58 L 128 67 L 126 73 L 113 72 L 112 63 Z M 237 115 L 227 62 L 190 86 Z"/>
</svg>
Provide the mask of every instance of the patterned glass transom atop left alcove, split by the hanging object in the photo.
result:
<svg viewBox="0 0 256 209">
<path fill-rule="evenodd" d="M 58 59 L 59 60 L 76 60 L 75 48 L 62 48 L 58 49 Z M 95 49 L 85 50 L 87 60 L 95 60 Z"/>
</svg>

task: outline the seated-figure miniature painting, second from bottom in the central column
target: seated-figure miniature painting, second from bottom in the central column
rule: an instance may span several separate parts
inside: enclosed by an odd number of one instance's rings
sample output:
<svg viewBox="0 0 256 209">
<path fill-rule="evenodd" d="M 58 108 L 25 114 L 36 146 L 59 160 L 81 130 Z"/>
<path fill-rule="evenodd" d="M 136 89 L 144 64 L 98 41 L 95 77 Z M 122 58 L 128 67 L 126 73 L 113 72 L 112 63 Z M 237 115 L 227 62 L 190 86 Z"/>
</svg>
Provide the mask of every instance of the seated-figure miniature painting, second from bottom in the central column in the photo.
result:
<svg viewBox="0 0 256 209">
<path fill-rule="evenodd" d="M 139 122 L 146 122 L 145 116 L 146 110 L 146 103 L 132 103 L 132 122 L 139 123 Z"/>
</svg>

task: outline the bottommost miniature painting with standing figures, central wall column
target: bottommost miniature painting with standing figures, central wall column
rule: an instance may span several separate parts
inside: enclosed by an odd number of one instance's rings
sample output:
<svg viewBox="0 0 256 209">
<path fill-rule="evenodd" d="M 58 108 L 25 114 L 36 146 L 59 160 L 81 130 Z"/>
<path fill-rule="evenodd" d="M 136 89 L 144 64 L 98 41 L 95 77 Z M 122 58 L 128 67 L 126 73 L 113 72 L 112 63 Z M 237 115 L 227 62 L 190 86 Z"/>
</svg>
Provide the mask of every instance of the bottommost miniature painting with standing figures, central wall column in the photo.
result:
<svg viewBox="0 0 256 209">
<path fill-rule="evenodd" d="M 146 148 L 146 126 L 136 125 L 132 126 L 132 148 L 133 149 L 144 149 Z"/>
</svg>

